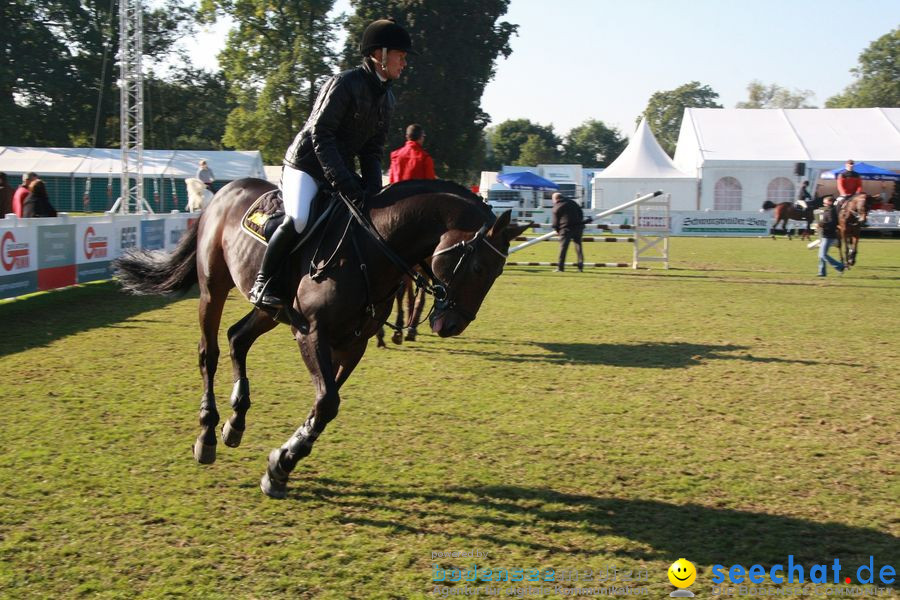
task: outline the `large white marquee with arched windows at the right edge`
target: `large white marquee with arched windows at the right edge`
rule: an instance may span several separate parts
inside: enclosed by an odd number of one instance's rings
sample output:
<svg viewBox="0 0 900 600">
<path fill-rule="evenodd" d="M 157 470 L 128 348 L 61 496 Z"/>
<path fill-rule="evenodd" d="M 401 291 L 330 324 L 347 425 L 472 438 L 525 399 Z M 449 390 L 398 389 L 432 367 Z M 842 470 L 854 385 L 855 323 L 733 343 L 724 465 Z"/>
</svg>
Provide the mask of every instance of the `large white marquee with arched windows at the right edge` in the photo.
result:
<svg viewBox="0 0 900 600">
<path fill-rule="evenodd" d="M 900 108 L 686 108 L 674 162 L 700 179 L 700 208 L 756 210 L 847 159 L 900 171 Z"/>
</svg>

